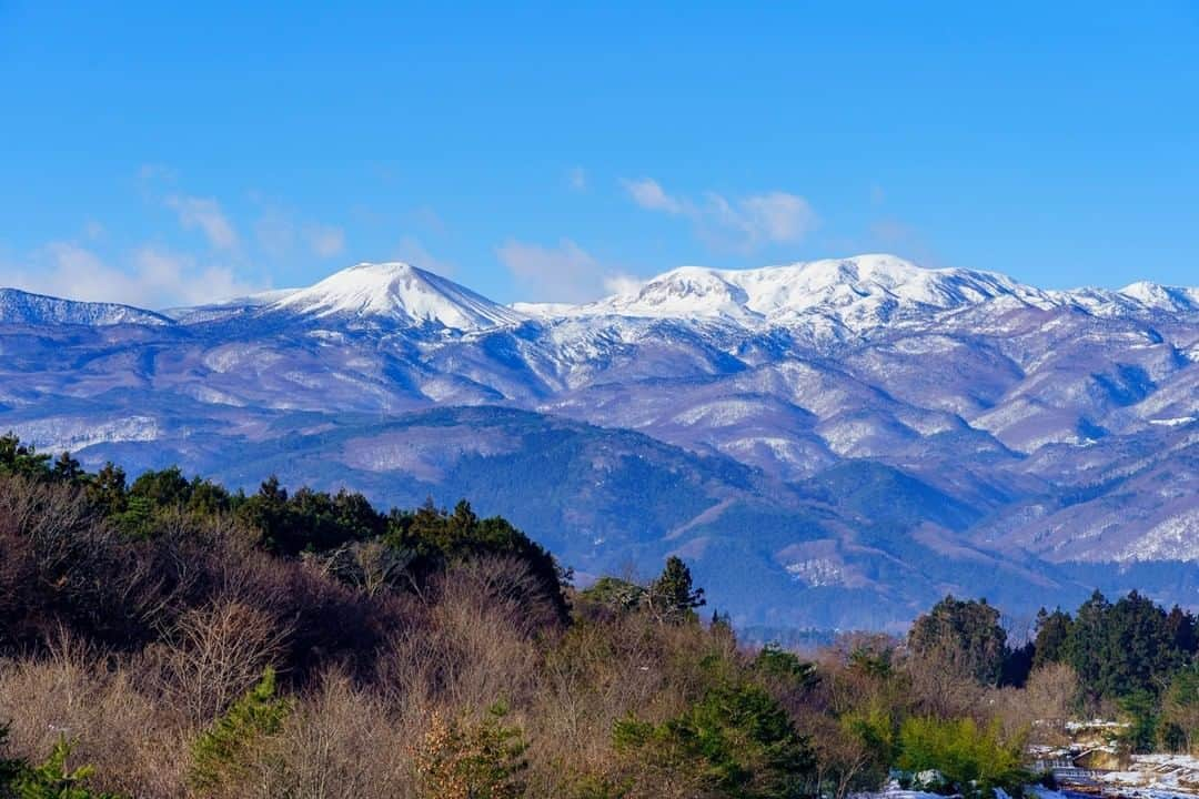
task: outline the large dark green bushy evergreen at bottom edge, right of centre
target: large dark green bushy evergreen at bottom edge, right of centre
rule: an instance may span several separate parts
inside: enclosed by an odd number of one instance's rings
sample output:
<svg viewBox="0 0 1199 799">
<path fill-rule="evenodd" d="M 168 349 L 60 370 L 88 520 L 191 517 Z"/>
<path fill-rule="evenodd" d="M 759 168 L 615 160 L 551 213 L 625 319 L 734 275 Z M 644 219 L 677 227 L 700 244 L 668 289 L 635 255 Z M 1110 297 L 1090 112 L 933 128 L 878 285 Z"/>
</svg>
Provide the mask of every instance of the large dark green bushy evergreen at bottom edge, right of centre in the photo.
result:
<svg viewBox="0 0 1199 799">
<path fill-rule="evenodd" d="M 787 710 L 759 685 L 711 688 L 664 724 L 616 724 L 617 751 L 645 765 L 689 774 L 730 799 L 795 799 L 811 793 L 815 755 Z"/>
</svg>

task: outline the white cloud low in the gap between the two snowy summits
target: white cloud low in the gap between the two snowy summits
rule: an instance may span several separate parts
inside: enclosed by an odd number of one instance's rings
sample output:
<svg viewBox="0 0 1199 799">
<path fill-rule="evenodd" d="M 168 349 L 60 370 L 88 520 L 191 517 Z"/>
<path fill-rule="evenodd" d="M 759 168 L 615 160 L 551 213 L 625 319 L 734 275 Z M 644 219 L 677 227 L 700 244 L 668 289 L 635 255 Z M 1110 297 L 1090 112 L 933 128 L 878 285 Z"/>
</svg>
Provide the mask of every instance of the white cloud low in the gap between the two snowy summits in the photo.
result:
<svg viewBox="0 0 1199 799">
<path fill-rule="evenodd" d="M 604 267 L 570 238 L 556 247 L 510 238 L 495 254 L 522 287 L 537 292 L 531 301 L 585 302 L 633 280 Z"/>
</svg>

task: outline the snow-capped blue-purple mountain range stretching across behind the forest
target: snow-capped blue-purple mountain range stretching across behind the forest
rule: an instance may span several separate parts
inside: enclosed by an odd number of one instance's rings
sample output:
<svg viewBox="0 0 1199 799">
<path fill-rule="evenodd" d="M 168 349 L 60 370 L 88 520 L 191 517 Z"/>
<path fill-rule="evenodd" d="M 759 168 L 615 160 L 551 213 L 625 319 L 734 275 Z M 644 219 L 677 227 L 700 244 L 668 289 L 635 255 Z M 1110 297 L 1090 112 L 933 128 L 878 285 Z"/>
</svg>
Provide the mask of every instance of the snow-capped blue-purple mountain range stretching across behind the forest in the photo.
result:
<svg viewBox="0 0 1199 799">
<path fill-rule="evenodd" d="M 0 290 L 0 428 L 127 470 L 469 497 L 746 628 L 1199 605 L 1199 289 L 863 255 L 504 305 L 405 264 L 165 310 Z"/>
</svg>

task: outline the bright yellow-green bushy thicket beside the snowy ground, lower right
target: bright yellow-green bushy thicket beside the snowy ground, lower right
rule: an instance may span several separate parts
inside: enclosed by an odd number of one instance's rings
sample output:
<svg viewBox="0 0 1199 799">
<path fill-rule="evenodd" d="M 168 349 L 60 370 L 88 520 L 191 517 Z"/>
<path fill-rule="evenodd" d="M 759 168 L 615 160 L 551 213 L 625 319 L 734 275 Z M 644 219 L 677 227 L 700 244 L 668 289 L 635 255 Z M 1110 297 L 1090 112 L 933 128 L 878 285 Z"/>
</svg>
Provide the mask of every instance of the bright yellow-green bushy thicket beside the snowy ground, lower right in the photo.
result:
<svg viewBox="0 0 1199 799">
<path fill-rule="evenodd" d="M 990 799 L 994 788 L 1019 794 L 1030 780 L 1020 763 L 1022 740 L 1005 742 L 999 724 L 974 719 L 910 718 L 899 730 L 899 768 L 940 771 L 965 797 Z"/>
</svg>

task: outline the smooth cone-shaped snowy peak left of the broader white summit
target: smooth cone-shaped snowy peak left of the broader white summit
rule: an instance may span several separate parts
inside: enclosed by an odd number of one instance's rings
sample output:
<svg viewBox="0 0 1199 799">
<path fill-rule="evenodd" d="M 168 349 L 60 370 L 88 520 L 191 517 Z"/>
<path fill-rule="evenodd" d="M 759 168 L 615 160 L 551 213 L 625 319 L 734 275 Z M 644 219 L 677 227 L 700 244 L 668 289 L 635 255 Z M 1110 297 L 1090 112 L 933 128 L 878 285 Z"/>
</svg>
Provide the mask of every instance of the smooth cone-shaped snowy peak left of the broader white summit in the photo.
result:
<svg viewBox="0 0 1199 799">
<path fill-rule="evenodd" d="M 359 264 L 267 307 L 303 316 L 353 316 L 459 331 L 512 325 L 518 311 L 410 264 Z"/>
</svg>

